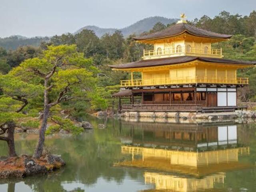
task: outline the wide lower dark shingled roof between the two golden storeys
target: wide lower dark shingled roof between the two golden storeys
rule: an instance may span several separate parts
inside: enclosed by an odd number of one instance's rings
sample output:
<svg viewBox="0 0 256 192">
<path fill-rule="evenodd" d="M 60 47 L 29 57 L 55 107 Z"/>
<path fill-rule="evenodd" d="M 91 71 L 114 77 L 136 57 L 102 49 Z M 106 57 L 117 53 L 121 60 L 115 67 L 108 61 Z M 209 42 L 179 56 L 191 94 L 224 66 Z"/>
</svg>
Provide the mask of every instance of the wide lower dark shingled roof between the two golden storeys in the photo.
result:
<svg viewBox="0 0 256 192">
<path fill-rule="evenodd" d="M 148 60 L 136 61 L 132 63 L 119 64 L 119 65 L 110 65 L 110 67 L 115 69 L 152 67 L 152 66 L 179 64 L 179 63 L 191 62 L 194 60 L 200 60 L 204 62 L 224 63 L 224 64 L 244 64 L 244 65 L 256 64 L 256 61 L 250 62 L 250 61 L 238 61 L 238 60 L 229 60 L 229 59 L 222 59 L 222 58 L 178 56 L 178 57 L 168 57 L 168 58 L 160 58 L 160 59 L 148 59 Z"/>
</svg>

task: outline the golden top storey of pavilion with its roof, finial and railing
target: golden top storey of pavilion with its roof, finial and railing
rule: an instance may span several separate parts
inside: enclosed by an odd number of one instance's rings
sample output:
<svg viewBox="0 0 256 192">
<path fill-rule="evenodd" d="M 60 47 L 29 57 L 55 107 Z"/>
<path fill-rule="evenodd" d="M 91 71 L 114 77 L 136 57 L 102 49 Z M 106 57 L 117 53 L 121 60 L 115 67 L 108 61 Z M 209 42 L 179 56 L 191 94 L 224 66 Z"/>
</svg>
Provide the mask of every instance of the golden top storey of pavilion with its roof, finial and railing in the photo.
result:
<svg viewBox="0 0 256 192">
<path fill-rule="evenodd" d="M 162 31 L 134 37 L 144 44 L 152 44 L 152 50 L 144 50 L 143 59 L 167 58 L 175 56 L 201 56 L 222 58 L 221 48 L 212 48 L 212 43 L 224 41 L 232 35 L 220 34 L 196 28 L 184 20 Z"/>
</svg>

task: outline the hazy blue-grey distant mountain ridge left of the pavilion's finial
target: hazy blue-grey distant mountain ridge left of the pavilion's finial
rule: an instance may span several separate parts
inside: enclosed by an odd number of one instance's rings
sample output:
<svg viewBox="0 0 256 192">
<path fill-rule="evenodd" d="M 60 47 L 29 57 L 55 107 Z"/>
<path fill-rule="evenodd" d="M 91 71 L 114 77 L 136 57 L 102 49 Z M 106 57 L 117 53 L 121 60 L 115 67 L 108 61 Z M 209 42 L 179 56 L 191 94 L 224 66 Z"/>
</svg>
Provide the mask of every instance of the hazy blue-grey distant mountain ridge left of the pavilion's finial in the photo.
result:
<svg viewBox="0 0 256 192">
<path fill-rule="evenodd" d="M 145 31 L 148 32 L 150 29 L 153 28 L 153 26 L 157 22 L 161 22 L 162 24 L 167 25 L 167 24 L 170 24 L 173 22 L 177 22 L 177 20 L 178 19 L 169 19 L 169 18 L 165 18 L 165 17 L 154 16 L 154 17 L 148 17 L 148 18 L 142 19 L 130 26 L 127 26 L 127 27 L 121 28 L 121 29 L 100 28 L 97 26 L 85 26 L 85 27 L 77 30 L 75 32 L 75 34 L 81 32 L 83 29 L 89 29 L 89 30 L 93 30 L 98 37 L 101 37 L 105 33 L 113 34 L 116 30 L 120 30 L 122 32 L 122 34 L 124 35 L 124 37 L 127 37 L 130 34 L 141 34 L 142 32 L 145 32 Z"/>
</svg>

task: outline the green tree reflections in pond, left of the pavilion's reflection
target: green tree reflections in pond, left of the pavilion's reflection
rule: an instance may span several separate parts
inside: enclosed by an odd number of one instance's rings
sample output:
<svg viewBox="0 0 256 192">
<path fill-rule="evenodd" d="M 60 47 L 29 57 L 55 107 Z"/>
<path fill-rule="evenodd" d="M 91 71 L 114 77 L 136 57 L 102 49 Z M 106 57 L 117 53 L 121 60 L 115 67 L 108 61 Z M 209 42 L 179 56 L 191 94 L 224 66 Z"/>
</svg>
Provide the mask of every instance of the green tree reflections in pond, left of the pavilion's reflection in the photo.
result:
<svg viewBox="0 0 256 192">
<path fill-rule="evenodd" d="M 107 128 L 99 130 L 98 123 L 106 122 Z M 47 146 L 56 146 L 56 153 L 62 154 L 66 160 L 66 167 L 60 171 L 53 172 L 47 176 L 33 176 L 21 179 L 3 180 L 2 182 L 10 185 L 10 191 L 14 191 L 15 183 L 23 181 L 31 190 L 36 192 L 66 192 L 62 187 L 62 182 L 80 182 L 82 184 L 91 185 L 102 177 L 106 181 L 114 180 L 118 184 L 122 183 L 126 174 L 131 178 L 141 178 L 143 180 L 143 172 L 136 169 L 113 167 L 114 162 L 124 160 L 121 154 L 120 127 L 116 120 L 108 119 L 100 120 L 100 122 L 92 122 L 94 126 L 93 132 L 84 133 L 79 136 L 63 136 L 62 138 L 47 138 Z M 18 154 L 32 154 L 36 146 L 36 139 L 26 139 L 24 136 L 21 140 L 16 140 L 16 148 Z M 24 139 L 24 140 L 23 140 Z M 5 145 L 0 145 L 0 153 L 7 150 Z M 72 192 L 81 192 L 79 188 Z"/>
</svg>

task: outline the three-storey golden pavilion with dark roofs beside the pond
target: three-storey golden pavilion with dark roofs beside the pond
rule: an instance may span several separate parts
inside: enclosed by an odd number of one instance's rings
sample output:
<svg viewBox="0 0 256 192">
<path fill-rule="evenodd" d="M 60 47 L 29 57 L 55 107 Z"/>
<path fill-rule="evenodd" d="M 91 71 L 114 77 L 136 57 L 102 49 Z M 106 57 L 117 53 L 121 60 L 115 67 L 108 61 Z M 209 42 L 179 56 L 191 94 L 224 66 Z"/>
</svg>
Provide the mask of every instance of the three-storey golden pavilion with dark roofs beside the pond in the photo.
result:
<svg viewBox="0 0 256 192">
<path fill-rule="evenodd" d="M 219 34 L 188 24 L 184 14 L 177 24 L 160 32 L 134 37 L 154 46 L 144 50 L 141 61 L 111 65 L 113 70 L 130 72 L 113 96 L 120 111 L 224 112 L 241 109 L 237 88 L 248 86 L 248 78 L 237 77 L 237 70 L 255 62 L 224 59 L 214 43 L 232 35 Z M 134 78 L 140 74 L 140 79 Z M 138 76 L 138 75 L 137 75 Z M 121 98 L 130 98 L 122 105 Z M 139 103 L 134 98 L 140 98 Z"/>
</svg>

